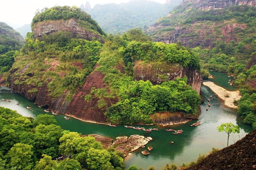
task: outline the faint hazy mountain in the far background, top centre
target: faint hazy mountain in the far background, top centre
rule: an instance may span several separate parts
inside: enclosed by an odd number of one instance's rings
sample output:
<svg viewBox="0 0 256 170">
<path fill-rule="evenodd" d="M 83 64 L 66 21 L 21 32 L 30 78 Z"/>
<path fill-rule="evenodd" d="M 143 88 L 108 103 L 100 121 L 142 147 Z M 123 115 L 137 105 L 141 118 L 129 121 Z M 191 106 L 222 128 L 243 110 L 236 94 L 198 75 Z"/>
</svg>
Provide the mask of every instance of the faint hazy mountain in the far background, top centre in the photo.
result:
<svg viewBox="0 0 256 170">
<path fill-rule="evenodd" d="M 96 4 L 93 9 L 87 2 L 80 8 L 90 14 L 105 32 L 122 34 L 133 28 L 147 30 L 158 18 L 166 16 L 181 2 L 171 0 L 161 4 L 150 0 L 131 0 L 120 4 Z"/>
</svg>

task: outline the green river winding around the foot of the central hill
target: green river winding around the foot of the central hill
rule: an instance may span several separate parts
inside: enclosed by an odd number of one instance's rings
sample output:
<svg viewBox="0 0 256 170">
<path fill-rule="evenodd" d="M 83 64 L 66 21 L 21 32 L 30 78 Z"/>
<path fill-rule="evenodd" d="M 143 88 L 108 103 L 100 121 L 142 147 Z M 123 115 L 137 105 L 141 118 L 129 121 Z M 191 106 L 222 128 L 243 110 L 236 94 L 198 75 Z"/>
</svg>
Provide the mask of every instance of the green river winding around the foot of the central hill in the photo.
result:
<svg viewBox="0 0 256 170">
<path fill-rule="evenodd" d="M 224 85 L 221 85 L 222 87 L 227 90 L 237 90 L 235 88 L 229 89 L 233 87 L 227 83 L 230 78 L 227 77 L 226 74 L 217 72 L 211 72 L 211 74 L 213 77 L 218 75 L 218 78 L 214 79 L 216 84 L 218 84 L 218 82 L 225 82 Z M 217 127 L 221 125 L 221 123 L 232 122 L 240 127 L 239 134 L 230 135 L 229 144 L 244 137 L 252 130 L 250 125 L 244 124 L 242 119 L 236 115 L 235 109 L 225 107 L 208 87 L 202 86 L 202 92 L 204 99 L 208 99 L 210 95 L 213 95 L 213 97 L 210 101 L 211 106 L 208 111 L 206 111 L 208 102 L 201 104 L 200 126 L 190 126 L 192 123 L 197 122 L 197 120 L 192 120 L 183 125 L 144 126 L 145 128 L 158 128 L 158 131 L 145 133 L 144 131 L 125 128 L 123 125 L 110 127 L 107 125 L 82 122 L 72 117 L 71 120 L 66 120 L 64 119 L 64 115 L 57 115 L 55 118 L 57 125 L 61 126 L 62 129 L 76 131 L 81 134 L 99 134 L 112 138 L 134 134 L 150 136 L 153 140 L 146 145 L 146 147 L 153 147 L 150 154 L 142 155 L 141 151 L 146 148 L 137 149 L 133 152 L 132 156 L 125 159 L 125 165 L 126 168 L 131 165 L 136 165 L 138 168 L 143 168 L 143 170 L 147 170 L 149 166 L 154 165 L 156 170 L 161 170 L 166 163 L 175 163 L 177 165 L 181 165 L 183 162 L 189 163 L 190 161 L 196 161 L 199 153 L 209 153 L 212 147 L 219 149 L 226 147 L 227 134 L 225 132 L 218 132 L 217 130 Z M 17 112 L 23 116 L 36 117 L 38 114 L 47 114 L 44 112 L 44 108 L 39 108 L 37 105 L 34 105 L 34 102 L 16 93 L 10 92 L 8 88 L 0 87 L 0 98 L 11 100 L 11 102 L 0 100 L 0 106 L 17 110 Z M 20 103 L 20 105 L 16 105 L 15 102 Z M 27 106 L 32 109 L 27 109 Z M 164 131 L 164 129 L 167 128 L 182 129 L 183 134 L 174 135 L 172 132 Z M 169 144 L 170 141 L 174 143 Z"/>
</svg>

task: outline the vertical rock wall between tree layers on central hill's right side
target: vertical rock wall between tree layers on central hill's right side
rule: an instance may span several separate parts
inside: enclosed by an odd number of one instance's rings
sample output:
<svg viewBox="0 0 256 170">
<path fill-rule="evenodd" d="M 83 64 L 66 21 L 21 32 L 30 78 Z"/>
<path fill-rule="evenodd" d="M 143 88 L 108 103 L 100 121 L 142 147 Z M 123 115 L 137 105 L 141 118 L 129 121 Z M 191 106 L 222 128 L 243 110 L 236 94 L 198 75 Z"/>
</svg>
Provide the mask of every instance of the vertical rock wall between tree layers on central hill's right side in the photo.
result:
<svg viewBox="0 0 256 170">
<path fill-rule="evenodd" d="M 168 65 L 166 63 L 161 65 L 155 64 L 143 64 L 141 61 L 134 63 L 134 80 L 151 81 L 152 84 L 159 84 L 163 81 L 175 80 L 180 77 L 187 76 L 187 84 L 192 86 L 192 89 L 196 90 L 199 95 L 201 94 L 201 86 L 203 79 L 199 71 L 182 67 L 177 63 Z"/>
</svg>

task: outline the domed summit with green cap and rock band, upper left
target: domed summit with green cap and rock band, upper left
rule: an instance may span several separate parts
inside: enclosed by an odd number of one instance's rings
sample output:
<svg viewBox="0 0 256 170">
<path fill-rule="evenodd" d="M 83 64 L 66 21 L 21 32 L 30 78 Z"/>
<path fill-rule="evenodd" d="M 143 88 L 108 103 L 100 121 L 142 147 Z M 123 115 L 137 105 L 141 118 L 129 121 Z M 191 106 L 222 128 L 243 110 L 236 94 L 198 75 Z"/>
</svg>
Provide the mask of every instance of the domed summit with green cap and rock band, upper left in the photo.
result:
<svg viewBox="0 0 256 170">
<path fill-rule="evenodd" d="M 31 23 L 34 38 L 56 32 L 69 32 L 72 37 L 105 42 L 107 34 L 90 15 L 76 6 L 55 6 L 38 11 Z"/>
</svg>

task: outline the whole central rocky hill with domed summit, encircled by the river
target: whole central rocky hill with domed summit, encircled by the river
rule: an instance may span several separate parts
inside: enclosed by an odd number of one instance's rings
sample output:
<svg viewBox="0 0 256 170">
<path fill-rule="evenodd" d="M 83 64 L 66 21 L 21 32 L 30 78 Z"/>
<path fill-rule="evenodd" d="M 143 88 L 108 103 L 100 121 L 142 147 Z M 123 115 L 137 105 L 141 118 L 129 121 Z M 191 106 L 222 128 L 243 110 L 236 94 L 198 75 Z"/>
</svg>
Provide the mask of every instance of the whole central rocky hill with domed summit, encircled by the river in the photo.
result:
<svg viewBox="0 0 256 170">
<path fill-rule="evenodd" d="M 36 14 L 3 79 L 40 107 L 84 121 L 149 124 L 154 113 L 198 116 L 202 78 L 194 51 L 152 42 L 137 29 L 103 39 L 94 23 L 77 7 Z"/>
</svg>

